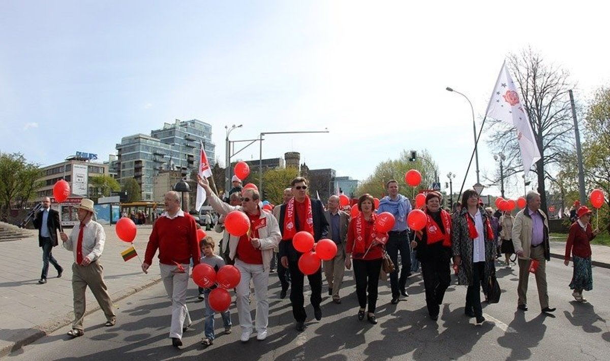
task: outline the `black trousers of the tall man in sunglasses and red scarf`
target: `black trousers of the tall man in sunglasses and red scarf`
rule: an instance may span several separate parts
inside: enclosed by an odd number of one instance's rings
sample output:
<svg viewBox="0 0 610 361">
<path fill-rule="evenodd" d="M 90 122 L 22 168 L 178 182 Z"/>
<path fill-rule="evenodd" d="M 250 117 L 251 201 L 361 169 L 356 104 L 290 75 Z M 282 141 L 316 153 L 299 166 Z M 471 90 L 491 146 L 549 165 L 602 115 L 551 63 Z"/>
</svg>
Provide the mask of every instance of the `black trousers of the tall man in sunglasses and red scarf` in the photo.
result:
<svg viewBox="0 0 610 361">
<path fill-rule="evenodd" d="M 292 315 L 295 316 L 297 322 L 305 322 L 307 319 L 307 313 L 305 312 L 305 298 L 303 296 L 303 284 L 305 281 L 305 275 L 299 270 L 299 266 L 296 260 L 289 260 L 288 268 L 290 270 L 290 282 L 292 287 L 290 289 L 290 302 L 292 302 Z M 309 287 L 311 288 L 311 306 L 314 309 L 320 308 L 320 302 L 322 302 L 322 270 L 314 274 L 307 276 L 309 280 Z"/>
</svg>

